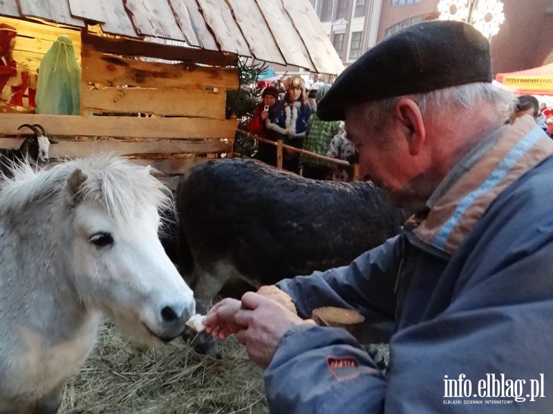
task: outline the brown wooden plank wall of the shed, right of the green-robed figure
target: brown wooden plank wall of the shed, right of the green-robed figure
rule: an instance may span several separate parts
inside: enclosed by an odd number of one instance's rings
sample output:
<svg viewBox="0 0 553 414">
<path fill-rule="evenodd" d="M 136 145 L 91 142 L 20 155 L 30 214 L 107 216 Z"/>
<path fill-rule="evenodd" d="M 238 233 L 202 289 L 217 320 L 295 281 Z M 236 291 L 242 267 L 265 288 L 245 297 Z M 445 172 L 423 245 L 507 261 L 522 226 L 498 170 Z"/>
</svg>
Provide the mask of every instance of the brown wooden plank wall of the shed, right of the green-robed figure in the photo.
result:
<svg viewBox="0 0 553 414">
<path fill-rule="evenodd" d="M 98 47 L 94 40 L 83 37 L 82 111 L 95 115 L 83 129 L 110 138 L 64 143 L 66 155 L 111 149 L 179 173 L 188 155 L 232 151 L 237 123 L 225 119 L 225 102 L 226 90 L 238 86 L 236 68 L 123 57 L 117 43 Z"/>
</svg>

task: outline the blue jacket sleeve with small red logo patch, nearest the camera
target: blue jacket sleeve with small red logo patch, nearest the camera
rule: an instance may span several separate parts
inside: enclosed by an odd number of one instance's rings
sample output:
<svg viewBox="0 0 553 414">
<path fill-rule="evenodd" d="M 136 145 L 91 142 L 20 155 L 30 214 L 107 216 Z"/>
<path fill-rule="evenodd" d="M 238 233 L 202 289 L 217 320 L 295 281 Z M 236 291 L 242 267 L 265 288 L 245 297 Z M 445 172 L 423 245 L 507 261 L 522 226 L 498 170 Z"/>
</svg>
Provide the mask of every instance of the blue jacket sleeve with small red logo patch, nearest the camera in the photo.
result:
<svg viewBox="0 0 553 414">
<path fill-rule="evenodd" d="M 270 413 L 381 413 L 384 375 L 344 329 L 290 329 L 264 375 Z"/>
</svg>

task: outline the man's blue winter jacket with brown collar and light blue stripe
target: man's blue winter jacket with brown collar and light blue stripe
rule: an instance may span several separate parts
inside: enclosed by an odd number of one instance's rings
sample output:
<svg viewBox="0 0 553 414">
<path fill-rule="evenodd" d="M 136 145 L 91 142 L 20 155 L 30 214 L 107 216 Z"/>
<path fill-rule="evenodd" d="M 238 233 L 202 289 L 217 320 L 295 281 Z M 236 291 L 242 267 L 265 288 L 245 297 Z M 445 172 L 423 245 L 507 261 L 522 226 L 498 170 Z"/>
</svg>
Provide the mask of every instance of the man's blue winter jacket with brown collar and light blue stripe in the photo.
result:
<svg viewBox="0 0 553 414">
<path fill-rule="evenodd" d="M 302 317 L 343 306 L 393 332 L 384 375 L 343 329 L 292 328 L 271 413 L 553 413 L 553 141 L 521 117 L 486 142 L 401 235 L 279 282 Z"/>
</svg>

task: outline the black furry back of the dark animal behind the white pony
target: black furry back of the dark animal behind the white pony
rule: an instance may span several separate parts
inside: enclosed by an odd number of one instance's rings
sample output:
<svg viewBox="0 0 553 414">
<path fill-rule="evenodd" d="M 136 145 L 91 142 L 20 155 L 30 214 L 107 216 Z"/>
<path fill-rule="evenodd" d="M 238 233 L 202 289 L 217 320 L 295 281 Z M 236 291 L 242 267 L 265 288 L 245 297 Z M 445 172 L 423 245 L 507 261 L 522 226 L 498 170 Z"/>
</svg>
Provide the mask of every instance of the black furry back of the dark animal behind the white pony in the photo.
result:
<svg viewBox="0 0 553 414">
<path fill-rule="evenodd" d="M 397 234 L 404 217 L 365 183 L 305 179 L 244 159 L 194 167 L 177 206 L 194 259 L 229 259 L 263 283 L 347 264 Z"/>
</svg>

